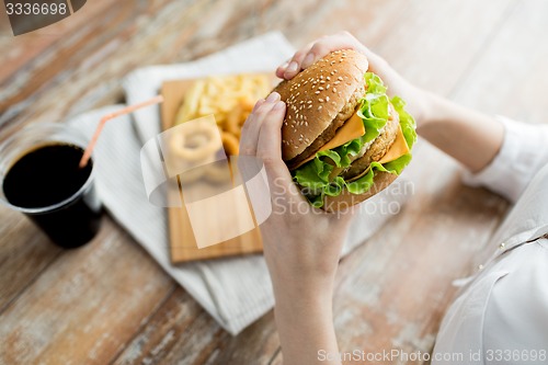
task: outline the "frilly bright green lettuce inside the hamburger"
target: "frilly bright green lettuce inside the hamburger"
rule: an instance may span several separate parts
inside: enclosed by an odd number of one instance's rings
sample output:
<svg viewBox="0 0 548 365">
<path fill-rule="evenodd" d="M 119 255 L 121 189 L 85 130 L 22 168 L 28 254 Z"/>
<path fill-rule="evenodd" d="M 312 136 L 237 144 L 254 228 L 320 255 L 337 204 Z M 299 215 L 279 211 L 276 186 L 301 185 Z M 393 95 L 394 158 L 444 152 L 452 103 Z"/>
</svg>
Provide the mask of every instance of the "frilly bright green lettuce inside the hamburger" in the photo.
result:
<svg viewBox="0 0 548 365">
<path fill-rule="evenodd" d="M 313 160 L 293 172 L 295 182 L 302 187 L 302 193 L 315 207 L 323 206 L 326 195 L 338 196 L 343 189 L 352 194 L 363 194 L 373 186 L 377 171 L 399 175 L 411 161 L 411 153 L 407 153 L 385 164 L 373 162 L 365 175 L 352 182 L 346 182 L 342 176 L 330 178 L 335 167 L 347 168 L 351 164 L 351 158 L 356 156 L 365 144 L 379 136 L 380 129 L 388 122 L 390 103 L 400 116 L 400 126 L 409 149 L 416 140 L 414 119 L 406 112 L 406 102 L 399 96 L 389 100 L 386 94 L 387 88 L 377 75 L 367 72 L 364 78 L 367 90 L 359 101 L 357 115 L 364 123 L 365 134 L 334 149 L 316 153 Z"/>
</svg>

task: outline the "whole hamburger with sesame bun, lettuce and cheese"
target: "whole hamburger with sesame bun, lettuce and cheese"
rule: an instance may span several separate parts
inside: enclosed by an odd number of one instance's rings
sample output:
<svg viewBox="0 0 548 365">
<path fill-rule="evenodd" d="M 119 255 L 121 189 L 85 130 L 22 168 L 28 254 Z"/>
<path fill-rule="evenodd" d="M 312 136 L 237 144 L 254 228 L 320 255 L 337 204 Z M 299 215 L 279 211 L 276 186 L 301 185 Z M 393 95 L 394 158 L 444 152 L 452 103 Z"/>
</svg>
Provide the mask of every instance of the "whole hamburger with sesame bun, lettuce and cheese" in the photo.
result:
<svg viewBox="0 0 548 365">
<path fill-rule="evenodd" d="M 286 103 L 282 158 L 318 208 L 335 212 L 392 183 L 411 161 L 415 123 L 355 50 L 333 52 L 274 91 Z"/>
</svg>

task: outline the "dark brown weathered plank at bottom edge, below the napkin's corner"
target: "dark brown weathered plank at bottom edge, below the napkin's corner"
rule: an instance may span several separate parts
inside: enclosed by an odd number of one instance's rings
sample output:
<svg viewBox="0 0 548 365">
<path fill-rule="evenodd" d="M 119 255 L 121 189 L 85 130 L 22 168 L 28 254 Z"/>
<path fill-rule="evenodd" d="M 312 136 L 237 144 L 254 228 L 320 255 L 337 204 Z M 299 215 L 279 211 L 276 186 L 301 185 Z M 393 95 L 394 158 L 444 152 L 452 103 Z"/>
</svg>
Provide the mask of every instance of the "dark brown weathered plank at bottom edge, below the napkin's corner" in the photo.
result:
<svg viewBox="0 0 548 365">
<path fill-rule="evenodd" d="M 278 345 L 272 313 L 232 338 L 179 288 L 113 364 L 266 364 Z"/>
</svg>

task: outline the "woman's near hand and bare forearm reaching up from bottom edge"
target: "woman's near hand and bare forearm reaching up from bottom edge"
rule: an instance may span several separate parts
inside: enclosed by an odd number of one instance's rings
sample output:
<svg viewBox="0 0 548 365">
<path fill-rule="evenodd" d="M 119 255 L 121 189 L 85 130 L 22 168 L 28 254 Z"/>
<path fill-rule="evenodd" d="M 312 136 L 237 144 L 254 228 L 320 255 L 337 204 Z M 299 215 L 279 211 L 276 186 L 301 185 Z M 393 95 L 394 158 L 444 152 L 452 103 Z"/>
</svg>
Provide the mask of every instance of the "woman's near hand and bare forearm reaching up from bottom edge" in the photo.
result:
<svg viewBox="0 0 548 365">
<path fill-rule="evenodd" d="M 310 364 L 319 350 L 338 351 L 331 303 L 351 212 L 324 213 L 300 194 L 282 160 L 284 115 L 279 94 L 259 101 L 242 128 L 240 153 L 261 159 L 269 180 L 272 214 L 260 228 L 284 363 Z"/>
</svg>

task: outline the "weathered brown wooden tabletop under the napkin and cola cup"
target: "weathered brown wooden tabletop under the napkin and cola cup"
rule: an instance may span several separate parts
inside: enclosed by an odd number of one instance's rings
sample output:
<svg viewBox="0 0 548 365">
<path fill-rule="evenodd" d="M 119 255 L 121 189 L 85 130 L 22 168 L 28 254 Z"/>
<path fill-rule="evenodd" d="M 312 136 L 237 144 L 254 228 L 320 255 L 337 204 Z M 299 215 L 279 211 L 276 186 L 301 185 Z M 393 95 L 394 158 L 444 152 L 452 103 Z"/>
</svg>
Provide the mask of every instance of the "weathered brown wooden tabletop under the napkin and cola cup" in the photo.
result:
<svg viewBox="0 0 548 365">
<path fill-rule="evenodd" d="M 423 88 L 540 123 L 547 13 L 544 0 L 88 1 L 56 25 L 0 35 L 0 134 L 123 101 L 121 79 L 136 68 L 271 30 L 296 46 L 349 30 Z M 431 351 L 450 282 L 492 249 L 507 212 L 425 142 L 409 170 L 409 204 L 341 262 L 342 351 Z M 272 311 L 232 338 L 109 216 L 92 243 L 64 251 L 0 207 L 0 364 L 175 363 L 281 364 Z"/>
</svg>

